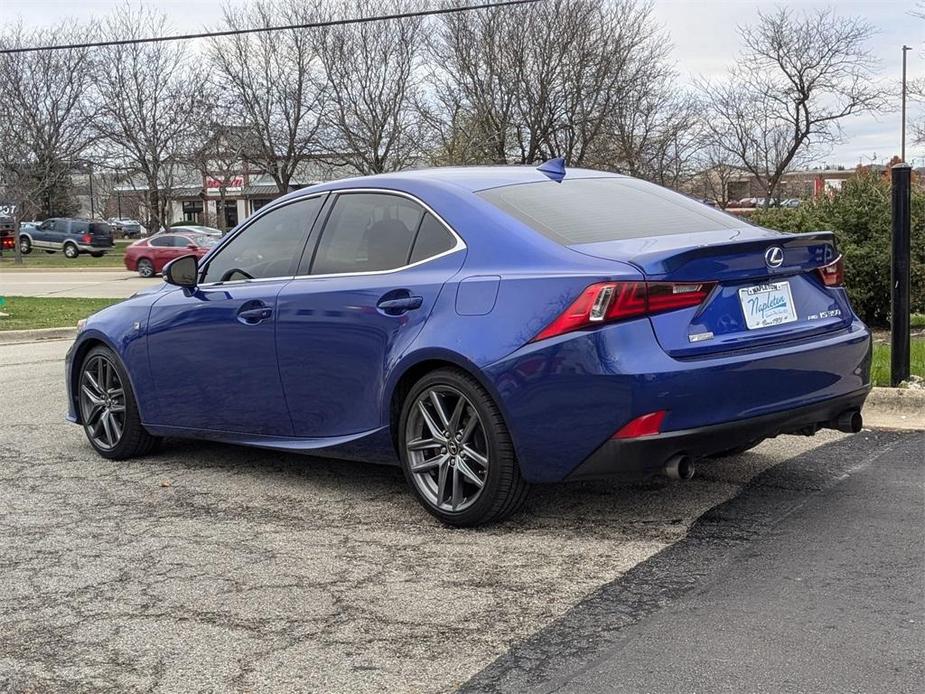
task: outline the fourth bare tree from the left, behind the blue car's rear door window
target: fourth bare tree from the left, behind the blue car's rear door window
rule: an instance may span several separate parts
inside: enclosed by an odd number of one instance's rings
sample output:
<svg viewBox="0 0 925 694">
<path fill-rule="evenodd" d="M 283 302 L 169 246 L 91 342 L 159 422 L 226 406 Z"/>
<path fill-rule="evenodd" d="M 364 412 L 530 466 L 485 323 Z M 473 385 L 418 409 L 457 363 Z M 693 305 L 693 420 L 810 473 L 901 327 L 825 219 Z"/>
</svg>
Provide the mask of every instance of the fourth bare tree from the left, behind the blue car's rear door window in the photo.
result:
<svg viewBox="0 0 925 694">
<path fill-rule="evenodd" d="M 406 0 L 351 0 L 351 17 L 394 14 Z M 360 174 L 404 168 L 421 153 L 417 96 L 421 81 L 420 17 L 329 27 L 319 36 L 329 94 L 324 111 L 332 163 Z"/>
</svg>

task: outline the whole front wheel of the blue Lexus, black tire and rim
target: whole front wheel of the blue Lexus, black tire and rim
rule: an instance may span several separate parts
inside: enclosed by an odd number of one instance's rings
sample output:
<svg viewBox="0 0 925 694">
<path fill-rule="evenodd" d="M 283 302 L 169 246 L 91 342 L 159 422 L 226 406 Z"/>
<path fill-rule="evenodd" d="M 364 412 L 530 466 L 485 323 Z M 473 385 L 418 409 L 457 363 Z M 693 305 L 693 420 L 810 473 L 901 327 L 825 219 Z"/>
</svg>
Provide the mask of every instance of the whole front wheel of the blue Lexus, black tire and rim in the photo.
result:
<svg viewBox="0 0 925 694">
<path fill-rule="evenodd" d="M 108 347 L 94 347 L 84 357 L 77 402 L 87 440 L 104 458 L 146 455 L 158 444 L 159 439 L 141 425 L 128 374 Z"/>
</svg>

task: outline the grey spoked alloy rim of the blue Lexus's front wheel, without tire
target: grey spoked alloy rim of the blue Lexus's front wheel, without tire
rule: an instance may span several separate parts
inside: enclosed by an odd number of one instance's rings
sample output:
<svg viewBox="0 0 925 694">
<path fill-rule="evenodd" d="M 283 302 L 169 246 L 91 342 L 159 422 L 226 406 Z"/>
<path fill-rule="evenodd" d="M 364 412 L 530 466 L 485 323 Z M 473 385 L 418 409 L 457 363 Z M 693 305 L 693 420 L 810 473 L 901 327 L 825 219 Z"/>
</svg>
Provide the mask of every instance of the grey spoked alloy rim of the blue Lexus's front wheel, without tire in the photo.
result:
<svg viewBox="0 0 925 694">
<path fill-rule="evenodd" d="M 80 374 L 80 414 L 90 440 L 100 448 L 115 448 L 125 431 L 125 387 L 113 364 L 96 354 Z"/>
</svg>

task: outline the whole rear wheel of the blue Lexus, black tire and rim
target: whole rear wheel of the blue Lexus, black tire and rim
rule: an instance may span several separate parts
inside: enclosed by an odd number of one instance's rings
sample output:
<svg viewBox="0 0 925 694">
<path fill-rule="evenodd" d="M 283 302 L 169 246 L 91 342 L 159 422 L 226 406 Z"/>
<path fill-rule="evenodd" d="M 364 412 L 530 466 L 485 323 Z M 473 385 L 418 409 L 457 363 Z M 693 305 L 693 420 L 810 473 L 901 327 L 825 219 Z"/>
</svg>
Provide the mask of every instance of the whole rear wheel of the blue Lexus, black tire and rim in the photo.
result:
<svg viewBox="0 0 925 694">
<path fill-rule="evenodd" d="M 414 385 L 402 405 L 399 451 L 414 495 L 448 525 L 503 520 L 526 498 L 500 410 L 462 371 L 438 369 Z"/>
</svg>

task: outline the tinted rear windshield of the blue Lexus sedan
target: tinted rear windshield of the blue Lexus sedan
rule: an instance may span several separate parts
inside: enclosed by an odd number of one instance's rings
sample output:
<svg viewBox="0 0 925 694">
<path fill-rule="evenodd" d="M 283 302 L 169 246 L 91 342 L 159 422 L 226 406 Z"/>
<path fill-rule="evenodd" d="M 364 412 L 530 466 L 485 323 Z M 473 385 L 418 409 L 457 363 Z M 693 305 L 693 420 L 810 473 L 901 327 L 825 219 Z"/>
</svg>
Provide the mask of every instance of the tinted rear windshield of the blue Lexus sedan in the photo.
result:
<svg viewBox="0 0 925 694">
<path fill-rule="evenodd" d="M 731 215 L 634 178 L 566 178 L 478 195 L 565 246 L 744 226 Z"/>
</svg>

